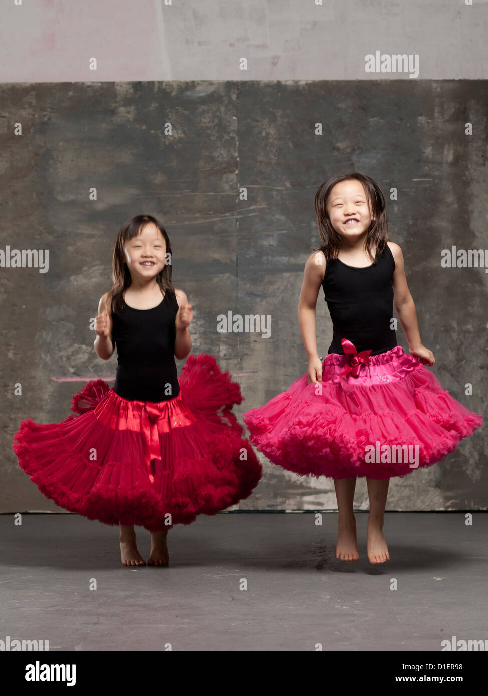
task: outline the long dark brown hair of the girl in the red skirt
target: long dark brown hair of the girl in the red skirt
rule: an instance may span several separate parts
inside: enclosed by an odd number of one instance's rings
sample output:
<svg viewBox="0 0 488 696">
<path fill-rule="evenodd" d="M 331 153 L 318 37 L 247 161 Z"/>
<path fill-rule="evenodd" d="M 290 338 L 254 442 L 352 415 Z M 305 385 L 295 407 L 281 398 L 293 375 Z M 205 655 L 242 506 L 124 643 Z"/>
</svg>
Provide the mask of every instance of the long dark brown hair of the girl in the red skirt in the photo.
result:
<svg viewBox="0 0 488 696">
<path fill-rule="evenodd" d="M 142 232 L 145 226 L 150 222 L 154 223 L 159 232 L 161 232 L 163 235 L 164 241 L 166 242 L 166 253 L 171 254 L 170 258 L 173 260 L 173 254 L 171 253 L 171 242 L 169 241 L 168 233 L 155 217 L 152 217 L 152 215 L 136 215 L 129 221 L 123 223 L 123 225 L 120 226 L 120 230 L 118 230 L 116 243 L 113 247 L 113 285 L 107 294 L 107 307 L 110 308 L 110 313 L 113 313 L 113 311 L 124 311 L 125 308 L 122 301 L 122 296 L 123 292 L 125 292 L 131 283 L 129 269 L 125 263 L 124 245 L 126 242 L 129 242 L 130 239 L 137 237 L 137 235 L 139 235 L 139 233 Z M 164 269 L 159 271 L 156 276 L 157 284 L 161 289 L 161 294 L 164 294 L 164 303 L 167 306 L 173 305 L 173 303 L 176 301 L 175 289 L 173 287 L 173 283 L 171 282 L 172 269 L 172 263 L 164 264 Z"/>
</svg>

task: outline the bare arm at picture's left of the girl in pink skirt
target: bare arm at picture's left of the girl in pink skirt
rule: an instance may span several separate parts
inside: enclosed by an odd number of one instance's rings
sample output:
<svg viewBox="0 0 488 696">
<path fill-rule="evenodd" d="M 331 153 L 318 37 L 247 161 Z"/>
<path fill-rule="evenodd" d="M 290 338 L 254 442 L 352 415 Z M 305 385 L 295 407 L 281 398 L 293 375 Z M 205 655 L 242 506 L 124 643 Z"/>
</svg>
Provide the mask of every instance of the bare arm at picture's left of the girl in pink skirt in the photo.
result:
<svg viewBox="0 0 488 696">
<path fill-rule="evenodd" d="M 316 251 L 308 257 L 298 303 L 298 323 L 301 340 L 304 342 L 306 354 L 308 355 L 308 384 L 310 382 L 322 381 L 322 363 L 317 353 L 315 305 L 317 304 L 320 285 L 322 285 L 322 280 L 324 280 L 325 264 L 326 261 L 322 251 Z"/>
</svg>

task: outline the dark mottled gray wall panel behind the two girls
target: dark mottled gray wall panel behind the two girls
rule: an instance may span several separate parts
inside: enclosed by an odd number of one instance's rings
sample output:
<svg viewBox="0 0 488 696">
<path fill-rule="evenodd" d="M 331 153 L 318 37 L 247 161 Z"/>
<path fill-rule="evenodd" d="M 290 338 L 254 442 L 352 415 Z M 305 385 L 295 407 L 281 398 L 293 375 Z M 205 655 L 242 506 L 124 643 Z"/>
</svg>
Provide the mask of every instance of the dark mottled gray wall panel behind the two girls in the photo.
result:
<svg viewBox="0 0 488 696">
<path fill-rule="evenodd" d="M 118 226 L 141 212 L 168 230 L 175 285 L 194 304 L 194 351 L 216 354 L 239 379 L 240 416 L 306 371 L 297 302 L 318 242 L 317 186 L 358 170 L 388 198 L 395 187 L 391 239 L 404 251 L 433 372 L 485 412 L 488 276 L 441 268 L 444 248 L 488 246 L 485 81 L 6 84 L 0 101 L 1 248 L 49 249 L 49 272 L 0 274 L 1 512 L 56 509 L 19 469 L 10 443 L 21 418 L 61 420 L 86 379 L 115 376 L 116 356 L 97 357 L 89 322 L 110 287 Z M 464 134 L 468 121 L 473 136 Z M 12 134 L 14 122 L 22 136 Z M 164 135 L 165 122 L 173 135 Z M 324 124 L 322 136 L 315 122 Z M 240 187 L 247 200 L 239 200 Z M 218 333 L 217 315 L 228 310 L 271 315 L 271 338 Z M 407 348 L 401 329 L 398 338 Z M 321 290 L 322 356 L 330 340 Z M 17 382 L 22 396 L 13 395 Z M 464 395 L 467 382 L 472 396 Z M 393 480 L 388 509 L 485 509 L 486 452 L 478 431 L 445 461 Z M 367 507 L 364 481 L 356 502 Z M 266 464 L 242 507 L 335 507 L 333 482 Z"/>
</svg>

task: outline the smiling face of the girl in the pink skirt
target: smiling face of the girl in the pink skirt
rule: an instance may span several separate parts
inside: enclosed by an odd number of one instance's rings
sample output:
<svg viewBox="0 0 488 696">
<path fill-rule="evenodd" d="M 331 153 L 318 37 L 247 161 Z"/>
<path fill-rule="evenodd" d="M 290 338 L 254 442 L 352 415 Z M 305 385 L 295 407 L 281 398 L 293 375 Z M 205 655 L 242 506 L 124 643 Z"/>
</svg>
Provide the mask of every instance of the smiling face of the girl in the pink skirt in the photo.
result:
<svg viewBox="0 0 488 696">
<path fill-rule="evenodd" d="M 372 209 L 363 184 L 356 179 L 332 187 L 326 210 L 332 227 L 343 237 L 358 237 L 370 228 Z"/>
</svg>

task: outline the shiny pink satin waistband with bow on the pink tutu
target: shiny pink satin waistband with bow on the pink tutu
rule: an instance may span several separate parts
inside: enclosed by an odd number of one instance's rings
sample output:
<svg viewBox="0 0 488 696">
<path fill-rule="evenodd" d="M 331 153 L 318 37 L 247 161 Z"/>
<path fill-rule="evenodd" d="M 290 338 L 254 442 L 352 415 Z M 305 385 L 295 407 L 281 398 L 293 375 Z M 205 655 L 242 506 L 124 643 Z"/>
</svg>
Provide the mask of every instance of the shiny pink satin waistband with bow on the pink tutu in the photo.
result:
<svg viewBox="0 0 488 696">
<path fill-rule="evenodd" d="M 416 358 L 405 353 L 401 346 L 379 355 L 369 355 L 369 351 L 357 353 L 350 341 L 343 343 L 343 347 L 345 351 L 349 350 L 349 354 L 329 353 L 325 356 L 322 381 L 368 386 L 402 379 L 420 367 Z"/>
</svg>

